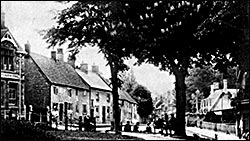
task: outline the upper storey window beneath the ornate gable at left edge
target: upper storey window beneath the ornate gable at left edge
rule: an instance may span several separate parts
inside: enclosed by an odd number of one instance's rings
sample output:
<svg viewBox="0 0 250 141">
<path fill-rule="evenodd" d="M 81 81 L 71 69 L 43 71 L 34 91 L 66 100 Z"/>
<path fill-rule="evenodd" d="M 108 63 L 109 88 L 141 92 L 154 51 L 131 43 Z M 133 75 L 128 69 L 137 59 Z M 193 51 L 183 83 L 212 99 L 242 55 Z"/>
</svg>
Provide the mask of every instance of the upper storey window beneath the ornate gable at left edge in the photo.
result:
<svg viewBox="0 0 250 141">
<path fill-rule="evenodd" d="M 1 42 L 1 70 L 14 70 L 15 47 L 11 42 Z"/>
</svg>

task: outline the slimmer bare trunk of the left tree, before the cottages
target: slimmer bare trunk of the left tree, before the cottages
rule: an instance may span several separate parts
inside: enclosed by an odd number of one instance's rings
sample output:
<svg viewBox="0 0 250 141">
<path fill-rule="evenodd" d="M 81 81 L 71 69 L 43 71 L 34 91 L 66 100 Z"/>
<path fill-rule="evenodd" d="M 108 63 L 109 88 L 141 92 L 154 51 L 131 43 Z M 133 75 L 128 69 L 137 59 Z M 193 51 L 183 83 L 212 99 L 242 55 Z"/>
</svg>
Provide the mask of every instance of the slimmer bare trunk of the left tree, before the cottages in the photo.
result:
<svg viewBox="0 0 250 141">
<path fill-rule="evenodd" d="M 119 112 L 119 95 L 118 95 L 118 71 L 115 63 L 110 63 L 111 71 L 111 83 L 112 83 L 112 94 L 113 94 L 113 119 L 114 129 L 116 134 L 120 134 L 120 112 Z"/>
</svg>

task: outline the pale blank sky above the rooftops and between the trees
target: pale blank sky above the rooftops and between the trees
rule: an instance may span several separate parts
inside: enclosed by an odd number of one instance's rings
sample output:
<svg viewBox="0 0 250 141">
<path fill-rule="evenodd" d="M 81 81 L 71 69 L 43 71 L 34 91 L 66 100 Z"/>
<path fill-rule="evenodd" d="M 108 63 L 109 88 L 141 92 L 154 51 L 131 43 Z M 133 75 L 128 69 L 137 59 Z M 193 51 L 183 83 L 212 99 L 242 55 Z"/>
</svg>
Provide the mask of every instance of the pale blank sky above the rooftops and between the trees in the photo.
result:
<svg viewBox="0 0 250 141">
<path fill-rule="evenodd" d="M 38 32 L 56 25 L 55 20 L 53 20 L 56 11 L 70 5 L 71 3 L 62 4 L 54 1 L 1 1 L 1 10 L 5 12 L 5 25 L 10 29 L 19 45 L 24 48 L 24 44 L 29 42 L 31 52 L 50 57 L 50 52 L 53 49 L 47 49 L 48 44 Z M 66 61 L 66 45 L 62 47 Z M 111 76 L 104 55 L 98 53 L 96 47 L 82 48 L 77 55 L 76 65 L 81 62 L 88 63 L 89 68 L 93 64 L 98 65 L 103 76 L 106 78 Z M 160 71 L 159 68 L 151 64 L 133 66 L 135 59 L 127 60 L 125 63 L 133 68 L 136 81 L 146 86 L 152 92 L 153 97 L 156 93 L 162 94 L 174 89 L 175 78 L 168 72 Z"/>
</svg>

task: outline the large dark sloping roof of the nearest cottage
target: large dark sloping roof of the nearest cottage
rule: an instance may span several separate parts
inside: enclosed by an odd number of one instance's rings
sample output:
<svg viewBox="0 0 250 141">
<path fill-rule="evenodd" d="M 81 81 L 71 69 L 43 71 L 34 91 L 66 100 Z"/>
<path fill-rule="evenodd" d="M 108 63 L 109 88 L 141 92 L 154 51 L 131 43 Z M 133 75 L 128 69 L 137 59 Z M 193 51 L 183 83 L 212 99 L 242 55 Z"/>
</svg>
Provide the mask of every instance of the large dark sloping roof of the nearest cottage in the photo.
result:
<svg viewBox="0 0 250 141">
<path fill-rule="evenodd" d="M 88 89 L 70 64 L 35 53 L 30 53 L 30 56 L 51 83 Z"/>
</svg>

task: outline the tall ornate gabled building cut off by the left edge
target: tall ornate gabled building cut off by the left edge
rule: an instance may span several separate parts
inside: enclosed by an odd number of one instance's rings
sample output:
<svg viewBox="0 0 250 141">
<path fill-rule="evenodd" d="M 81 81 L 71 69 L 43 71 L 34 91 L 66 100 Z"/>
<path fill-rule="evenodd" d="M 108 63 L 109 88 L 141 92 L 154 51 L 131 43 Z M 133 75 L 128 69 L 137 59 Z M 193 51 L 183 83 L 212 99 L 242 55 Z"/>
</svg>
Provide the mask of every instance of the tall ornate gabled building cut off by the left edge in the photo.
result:
<svg viewBox="0 0 250 141">
<path fill-rule="evenodd" d="M 1 7 L 1 117 L 24 117 L 23 55 L 25 52 L 5 26 Z M 21 64 L 21 65 L 20 65 Z"/>
</svg>

